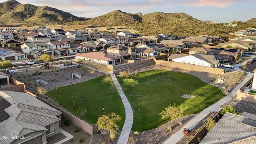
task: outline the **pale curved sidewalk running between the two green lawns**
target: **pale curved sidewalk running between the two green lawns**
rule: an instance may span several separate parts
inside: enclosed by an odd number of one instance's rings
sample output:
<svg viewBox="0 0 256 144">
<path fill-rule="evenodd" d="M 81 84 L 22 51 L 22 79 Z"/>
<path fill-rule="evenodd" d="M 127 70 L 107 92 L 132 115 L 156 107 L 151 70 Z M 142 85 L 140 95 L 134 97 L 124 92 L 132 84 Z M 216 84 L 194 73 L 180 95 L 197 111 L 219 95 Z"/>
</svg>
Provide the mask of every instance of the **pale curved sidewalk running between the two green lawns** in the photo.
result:
<svg viewBox="0 0 256 144">
<path fill-rule="evenodd" d="M 129 138 L 129 135 L 130 135 L 130 132 L 132 129 L 132 125 L 133 125 L 133 120 L 134 120 L 133 109 L 132 109 L 127 97 L 125 96 L 124 92 L 122 91 L 122 87 L 120 86 L 119 82 L 117 81 L 116 76 L 114 74 L 110 74 L 110 75 L 114 81 L 116 89 L 122 99 L 122 103 L 125 108 L 125 122 L 122 127 L 122 132 L 119 136 L 117 144 L 127 144 L 128 138 Z"/>
</svg>

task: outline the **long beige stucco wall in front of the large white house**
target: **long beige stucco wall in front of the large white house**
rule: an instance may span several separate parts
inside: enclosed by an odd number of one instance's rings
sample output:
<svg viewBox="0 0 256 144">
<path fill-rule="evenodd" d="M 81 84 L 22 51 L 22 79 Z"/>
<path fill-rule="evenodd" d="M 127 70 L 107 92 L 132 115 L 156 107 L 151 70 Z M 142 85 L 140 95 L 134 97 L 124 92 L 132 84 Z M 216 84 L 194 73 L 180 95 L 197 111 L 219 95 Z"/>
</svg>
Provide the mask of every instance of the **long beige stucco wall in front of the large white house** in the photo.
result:
<svg viewBox="0 0 256 144">
<path fill-rule="evenodd" d="M 177 68 L 177 69 L 196 71 L 196 72 L 207 72 L 207 73 L 213 73 L 213 74 L 224 74 L 224 71 L 225 71 L 224 69 L 220 69 L 220 68 L 205 67 L 205 66 L 184 64 L 184 63 L 164 61 L 164 60 L 156 60 L 155 58 L 153 59 L 155 61 L 155 64 L 170 67 L 170 68 Z"/>
</svg>

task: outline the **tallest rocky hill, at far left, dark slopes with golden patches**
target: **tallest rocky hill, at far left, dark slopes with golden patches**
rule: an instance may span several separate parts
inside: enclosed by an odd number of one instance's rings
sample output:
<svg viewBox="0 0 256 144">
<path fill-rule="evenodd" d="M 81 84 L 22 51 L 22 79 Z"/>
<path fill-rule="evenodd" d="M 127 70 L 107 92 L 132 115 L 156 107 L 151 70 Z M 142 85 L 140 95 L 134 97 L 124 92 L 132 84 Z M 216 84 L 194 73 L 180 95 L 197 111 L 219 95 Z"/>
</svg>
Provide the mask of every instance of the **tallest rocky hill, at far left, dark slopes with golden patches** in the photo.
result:
<svg viewBox="0 0 256 144">
<path fill-rule="evenodd" d="M 47 6 L 21 4 L 15 0 L 0 3 L 0 23 L 4 24 L 56 24 L 81 20 L 84 19 Z"/>
</svg>

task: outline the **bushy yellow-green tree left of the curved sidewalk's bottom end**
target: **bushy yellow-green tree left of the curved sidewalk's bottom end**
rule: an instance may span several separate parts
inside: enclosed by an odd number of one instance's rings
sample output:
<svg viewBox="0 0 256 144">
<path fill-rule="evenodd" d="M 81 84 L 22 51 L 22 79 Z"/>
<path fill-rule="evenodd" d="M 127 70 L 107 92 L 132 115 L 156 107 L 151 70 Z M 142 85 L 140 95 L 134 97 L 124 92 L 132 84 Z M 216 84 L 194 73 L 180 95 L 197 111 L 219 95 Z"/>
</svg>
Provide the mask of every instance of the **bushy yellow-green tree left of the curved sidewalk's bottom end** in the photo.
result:
<svg viewBox="0 0 256 144">
<path fill-rule="evenodd" d="M 109 134 L 109 140 L 112 141 L 115 139 L 118 131 L 118 122 L 121 120 L 121 117 L 116 113 L 110 113 L 108 115 L 102 115 L 98 118 L 96 125 L 99 130 L 107 131 Z"/>
</svg>

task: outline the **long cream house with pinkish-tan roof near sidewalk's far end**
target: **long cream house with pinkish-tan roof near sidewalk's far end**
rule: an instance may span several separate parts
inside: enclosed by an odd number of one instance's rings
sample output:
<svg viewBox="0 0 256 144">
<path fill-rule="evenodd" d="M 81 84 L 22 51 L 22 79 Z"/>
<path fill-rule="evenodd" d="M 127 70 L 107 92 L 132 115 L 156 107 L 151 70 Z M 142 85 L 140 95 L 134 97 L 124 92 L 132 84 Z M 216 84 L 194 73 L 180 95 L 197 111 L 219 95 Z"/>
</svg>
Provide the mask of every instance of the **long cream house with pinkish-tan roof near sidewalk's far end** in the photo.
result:
<svg viewBox="0 0 256 144">
<path fill-rule="evenodd" d="M 96 63 L 109 64 L 109 65 L 116 65 L 117 60 L 120 60 L 121 62 L 121 58 L 113 55 L 109 55 L 107 54 L 106 51 L 77 53 L 75 54 L 75 59 L 82 59 L 86 61 L 92 61 Z"/>
</svg>

